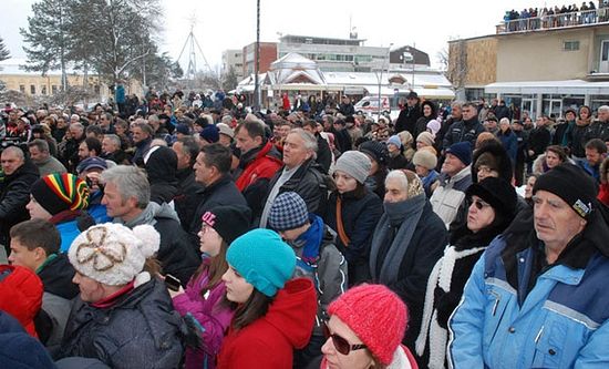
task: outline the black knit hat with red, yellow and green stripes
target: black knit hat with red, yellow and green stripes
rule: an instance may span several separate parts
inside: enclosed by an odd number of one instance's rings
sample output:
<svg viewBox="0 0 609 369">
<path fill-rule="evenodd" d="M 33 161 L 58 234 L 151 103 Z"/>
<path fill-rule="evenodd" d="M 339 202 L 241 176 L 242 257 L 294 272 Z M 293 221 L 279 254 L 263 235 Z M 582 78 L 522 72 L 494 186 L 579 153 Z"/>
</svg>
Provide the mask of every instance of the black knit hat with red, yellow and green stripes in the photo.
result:
<svg viewBox="0 0 609 369">
<path fill-rule="evenodd" d="M 86 183 L 71 173 L 49 174 L 39 178 L 32 185 L 31 194 L 51 215 L 83 209 L 89 205 Z"/>
</svg>

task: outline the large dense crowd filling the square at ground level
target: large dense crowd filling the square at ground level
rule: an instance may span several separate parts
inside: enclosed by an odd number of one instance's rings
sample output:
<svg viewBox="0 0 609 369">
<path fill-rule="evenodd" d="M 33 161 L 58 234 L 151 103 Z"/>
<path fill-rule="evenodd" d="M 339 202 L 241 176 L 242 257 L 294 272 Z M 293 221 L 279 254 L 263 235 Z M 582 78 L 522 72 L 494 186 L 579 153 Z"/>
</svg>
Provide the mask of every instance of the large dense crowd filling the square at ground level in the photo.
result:
<svg viewBox="0 0 609 369">
<path fill-rule="evenodd" d="M 609 106 L 163 96 L 4 109 L 2 367 L 609 363 Z"/>
</svg>

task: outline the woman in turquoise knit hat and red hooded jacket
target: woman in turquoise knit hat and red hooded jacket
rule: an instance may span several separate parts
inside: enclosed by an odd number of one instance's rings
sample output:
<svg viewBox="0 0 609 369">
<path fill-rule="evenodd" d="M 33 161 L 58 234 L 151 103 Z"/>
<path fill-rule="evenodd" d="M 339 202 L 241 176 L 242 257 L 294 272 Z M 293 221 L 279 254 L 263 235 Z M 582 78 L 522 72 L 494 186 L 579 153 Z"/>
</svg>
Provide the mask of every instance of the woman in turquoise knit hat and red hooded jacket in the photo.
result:
<svg viewBox="0 0 609 369">
<path fill-rule="evenodd" d="M 291 368 L 317 312 L 313 283 L 290 280 L 295 252 L 276 232 L 258 228 L 235 239 L 226 260 L 226 298 L 236 310 L 217 368 Z"/>
</svg>

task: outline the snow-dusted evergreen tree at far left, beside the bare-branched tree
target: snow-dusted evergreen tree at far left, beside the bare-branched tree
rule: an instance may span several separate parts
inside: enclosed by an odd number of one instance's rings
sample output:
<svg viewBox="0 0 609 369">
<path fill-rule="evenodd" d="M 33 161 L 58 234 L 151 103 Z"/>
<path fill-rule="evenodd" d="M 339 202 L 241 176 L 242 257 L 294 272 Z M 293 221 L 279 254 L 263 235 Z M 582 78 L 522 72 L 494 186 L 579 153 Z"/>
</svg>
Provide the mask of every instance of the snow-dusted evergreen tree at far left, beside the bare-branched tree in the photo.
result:
<svg viewBox="0 0 609 369">
<path fill-rule="evenodd" d="M 32 4 L 32 17 L 28 17 L 28 29 L 20 29 L 28 55 L 25 69 L 42 72 L 61 69 L 62 90 L 68 88 L 65 71 L 66 54 L 71 44 L 66 24 L 70 21 L 71 0 L 41 0 Z"/>
</svg>

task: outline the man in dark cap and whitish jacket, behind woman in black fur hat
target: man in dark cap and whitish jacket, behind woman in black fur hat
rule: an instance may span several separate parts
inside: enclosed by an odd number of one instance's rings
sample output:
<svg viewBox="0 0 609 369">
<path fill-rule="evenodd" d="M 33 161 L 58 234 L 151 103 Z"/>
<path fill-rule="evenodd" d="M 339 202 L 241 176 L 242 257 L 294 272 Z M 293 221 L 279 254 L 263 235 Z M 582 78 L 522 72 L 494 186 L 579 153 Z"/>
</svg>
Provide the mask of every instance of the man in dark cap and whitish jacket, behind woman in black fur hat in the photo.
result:
<svg viewBox="0 0 609 369">
<path fill-rule="evenodd" d="M 446 228 L 457 216 L 465 199 L 465 191 L 472 184 L 471 163 L 472 146 L 469 142 L 460 142 L 446 150 L 446 157 L 438 178 L 440 185 L 430 199 L 434 213 L 444 221 Z"/>
</svg>

